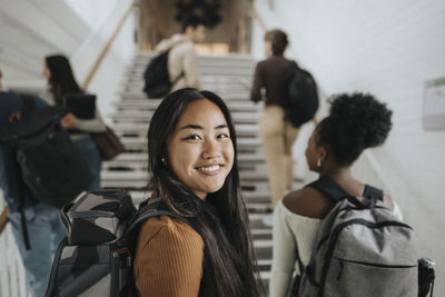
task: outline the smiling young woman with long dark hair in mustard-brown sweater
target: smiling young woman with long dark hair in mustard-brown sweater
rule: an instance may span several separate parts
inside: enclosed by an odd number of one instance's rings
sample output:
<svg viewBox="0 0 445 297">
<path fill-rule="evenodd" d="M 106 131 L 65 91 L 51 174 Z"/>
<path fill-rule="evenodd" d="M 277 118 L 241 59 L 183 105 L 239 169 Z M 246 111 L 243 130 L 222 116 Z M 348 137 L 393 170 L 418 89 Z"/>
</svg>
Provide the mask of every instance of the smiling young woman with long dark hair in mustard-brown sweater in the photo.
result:
<svg viewBox="0 0 445 297">
<path fill-rule="evenodd" d="M 154 197 L 166 216 L 141 227 L 135 259 L 140 296 L 260 296 L 240 197 L 236 133 L 210 91 L 181 89 L 156 110 L 148 130 Z"/>
</svg>

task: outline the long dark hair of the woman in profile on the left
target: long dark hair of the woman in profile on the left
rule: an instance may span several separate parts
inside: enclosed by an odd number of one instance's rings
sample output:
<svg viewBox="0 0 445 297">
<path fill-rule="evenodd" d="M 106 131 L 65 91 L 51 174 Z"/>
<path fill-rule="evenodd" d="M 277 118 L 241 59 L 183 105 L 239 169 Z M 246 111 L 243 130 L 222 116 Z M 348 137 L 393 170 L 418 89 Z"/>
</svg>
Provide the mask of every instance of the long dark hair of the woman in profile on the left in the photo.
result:
<svg viewBox="0 0 445 297">
<path fill-rule="evenodd" d="M 51 77 L 49 79 L 50 91 L 56 105 L 61 106 L 63 97 L 68 93 L 82 92 L 72 73 L 67 57 L 62 55 L 47 56 L 44 58 Z"/>
</svg>

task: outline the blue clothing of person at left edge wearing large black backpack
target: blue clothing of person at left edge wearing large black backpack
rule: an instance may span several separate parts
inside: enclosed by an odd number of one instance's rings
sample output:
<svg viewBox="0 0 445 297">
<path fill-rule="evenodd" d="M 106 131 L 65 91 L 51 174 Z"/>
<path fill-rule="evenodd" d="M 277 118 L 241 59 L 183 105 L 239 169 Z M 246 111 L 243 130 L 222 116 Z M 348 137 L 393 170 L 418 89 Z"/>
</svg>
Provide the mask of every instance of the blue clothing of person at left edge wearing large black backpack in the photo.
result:
<svg viewBox="0 0 445 297">
<path fill-rule="evenodd" d="M 36 99 L 36 106 L 40 108 L 46 103 Z M 12 112 L 21 110 L 20 96 L 12 92 L 0 92 L 0 127 L 8 122 Z M 29 290 L 32 296 L 41 297 L 44 296 L 56 247 L 66 236 L 66 231 L 59 220 L 59 209 L 37 201 L 29 194 L 24 194 L 23 210 L 30 239 L 30 249 L 26 248 L 13 168 L 12 151 L 0 145 L 0 188 L 3 190 L 8 205 L 12 235 L 23 259 Z"/>
</svg>

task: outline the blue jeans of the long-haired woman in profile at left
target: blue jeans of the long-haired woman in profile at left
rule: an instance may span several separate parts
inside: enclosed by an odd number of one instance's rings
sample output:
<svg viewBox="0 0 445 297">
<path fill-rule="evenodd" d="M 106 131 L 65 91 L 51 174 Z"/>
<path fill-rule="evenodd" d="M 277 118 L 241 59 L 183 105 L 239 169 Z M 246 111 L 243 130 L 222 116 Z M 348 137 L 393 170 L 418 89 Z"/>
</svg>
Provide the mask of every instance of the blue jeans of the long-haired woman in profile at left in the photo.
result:
<svg viewBox="0 0 445 297">
<path fill-rule="evenodd" d="M 96 147 L 91 137 L 81 138 L 75 141 L 77 148 L 81 151 L 82 156 L 87 159 L 90 167 L 92 181 L 87 190 L 100 189 L 100 170 L 102 169 L 102 158 Z"/>
</svg>

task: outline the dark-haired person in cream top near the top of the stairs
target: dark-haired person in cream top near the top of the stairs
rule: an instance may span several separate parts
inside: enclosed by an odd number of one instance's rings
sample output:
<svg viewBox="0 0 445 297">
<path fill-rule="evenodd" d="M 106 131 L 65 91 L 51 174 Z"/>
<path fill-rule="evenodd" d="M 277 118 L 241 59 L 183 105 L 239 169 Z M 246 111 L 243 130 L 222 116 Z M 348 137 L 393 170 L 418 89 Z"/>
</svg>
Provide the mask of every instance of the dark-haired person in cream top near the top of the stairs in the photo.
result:
<svg viewBox="0 0 445 297">
<path fill-rule="evenodd" d="M 170 81 L 175 82 L 170 92 L 182 88 L 200 88 L 199 63 L 195 43 L 206 38 L 204 19 L 198 16 L 187 16 L 181 23 L 181 33 L 162 40 L 156 47 L 157 51 L 168 53 L 168 72 Z"/>
</svg>

